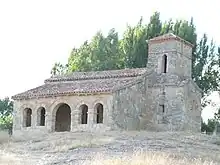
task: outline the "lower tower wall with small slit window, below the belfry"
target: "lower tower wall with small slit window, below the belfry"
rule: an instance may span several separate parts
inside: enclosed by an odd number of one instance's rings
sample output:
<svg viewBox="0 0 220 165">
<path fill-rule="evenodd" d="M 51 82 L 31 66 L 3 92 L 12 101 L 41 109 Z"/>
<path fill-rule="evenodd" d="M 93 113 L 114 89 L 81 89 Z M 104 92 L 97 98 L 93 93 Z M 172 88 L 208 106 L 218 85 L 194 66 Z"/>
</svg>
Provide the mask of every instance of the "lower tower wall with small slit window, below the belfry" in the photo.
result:
<svg viewBox="0 0 220 165">
<path fill-rule="evenodd" d="M 149 88 L 148 112 L 154 112 L 154 125 L 148 129 L 157 131 L 182 130 L 184 125 L 183 88 L 177 86 Z M 164 109 L 162 108 L 164 106 Z M 153 126 L 153 127 L 152 127 Z"/>
</svg>

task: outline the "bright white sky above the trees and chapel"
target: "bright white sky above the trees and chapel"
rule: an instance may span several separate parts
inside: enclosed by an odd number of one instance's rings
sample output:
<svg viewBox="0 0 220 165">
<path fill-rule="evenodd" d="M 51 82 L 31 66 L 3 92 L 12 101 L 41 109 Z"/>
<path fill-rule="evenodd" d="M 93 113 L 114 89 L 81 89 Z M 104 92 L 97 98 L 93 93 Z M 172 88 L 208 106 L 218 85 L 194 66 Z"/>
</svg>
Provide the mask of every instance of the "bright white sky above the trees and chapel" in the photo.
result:
<svg viewBox="0 0 220 165">
<path fill-rule="evenodd" d="M 217 0 L 0 0 L 0 98 L 41 85 L 54 62 L 66 62 L 98 30 L 123 32 L 154 11 L 162 20 L 193 16 L 197 32 L 220 44 L 218 6 Z"/>
</svg>

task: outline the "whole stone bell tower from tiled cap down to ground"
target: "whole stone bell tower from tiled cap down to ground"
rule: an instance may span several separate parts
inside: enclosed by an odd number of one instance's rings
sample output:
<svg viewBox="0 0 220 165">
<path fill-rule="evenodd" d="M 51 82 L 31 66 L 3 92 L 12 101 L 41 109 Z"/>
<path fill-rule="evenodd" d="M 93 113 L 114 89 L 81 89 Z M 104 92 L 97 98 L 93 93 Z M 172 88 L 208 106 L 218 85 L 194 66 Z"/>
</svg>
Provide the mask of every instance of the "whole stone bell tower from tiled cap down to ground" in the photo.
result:
<svg viewBox="0 0 220 165">
<path fill-rule="evenodd" d="M 148 41 L 148 111 L 161 130 L 200 130 L 201 95 L 191 78 L 193 45 L 168 33 Z M 192 108 L 197 105 L 197 108 Z"/>
</svg>

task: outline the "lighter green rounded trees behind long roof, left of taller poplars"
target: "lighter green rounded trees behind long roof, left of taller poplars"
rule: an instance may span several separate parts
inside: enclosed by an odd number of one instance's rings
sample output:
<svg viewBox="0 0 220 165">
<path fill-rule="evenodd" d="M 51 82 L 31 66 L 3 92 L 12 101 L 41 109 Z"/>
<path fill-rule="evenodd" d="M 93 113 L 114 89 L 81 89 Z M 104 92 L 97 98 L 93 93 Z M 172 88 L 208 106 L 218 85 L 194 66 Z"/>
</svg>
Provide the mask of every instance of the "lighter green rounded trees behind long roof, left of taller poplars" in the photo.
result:
<svg viewBox="0 0 220 165">
<path fill-rule="evenodd" d="M 97 32 L 91 42 L 74 48 L 68 65 L 71 72 L 118 69 L 122 67 L 120 58 L 118 33 L 111 29 L 107 36 Z"/>
</svg>

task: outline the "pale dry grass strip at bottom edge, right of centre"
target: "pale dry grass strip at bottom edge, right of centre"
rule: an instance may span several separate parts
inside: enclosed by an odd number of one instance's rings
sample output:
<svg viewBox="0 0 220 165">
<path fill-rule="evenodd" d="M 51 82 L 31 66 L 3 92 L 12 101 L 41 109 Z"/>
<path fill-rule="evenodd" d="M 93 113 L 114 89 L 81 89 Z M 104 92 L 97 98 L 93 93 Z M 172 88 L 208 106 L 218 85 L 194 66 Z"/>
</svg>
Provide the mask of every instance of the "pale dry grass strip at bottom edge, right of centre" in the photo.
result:
<svg viewBox="0 0 220 165">
<path fill-rule="evenodd" d="M 103 159 L 97 156 L 90 165 L 217 165 L 201 159 L 175 158 L 174 155 L 158 152 L 136 152 L 132 156 L 113 157 Z"/>
</svg>

